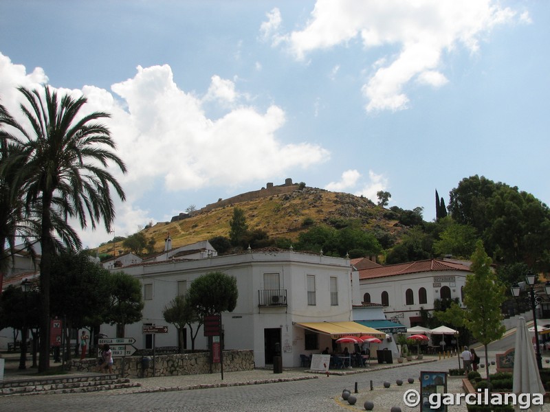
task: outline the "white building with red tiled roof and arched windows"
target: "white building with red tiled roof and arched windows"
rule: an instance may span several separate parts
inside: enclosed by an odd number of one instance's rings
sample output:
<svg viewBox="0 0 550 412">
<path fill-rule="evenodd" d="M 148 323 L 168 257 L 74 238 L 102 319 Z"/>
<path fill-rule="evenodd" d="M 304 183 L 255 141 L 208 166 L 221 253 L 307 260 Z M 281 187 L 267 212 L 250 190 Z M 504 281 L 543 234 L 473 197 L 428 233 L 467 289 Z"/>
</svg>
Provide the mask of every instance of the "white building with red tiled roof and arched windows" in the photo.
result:
<svg viewBox="0 0 550 412">
<path fill-rule="evenodd" d="M 463 301 L 470 268 L 457 262 L 420 260 L 358 271 L 366 303 L 384 306 L 388 319 L 412 327 L 421 323 L 420 309 L 432 311 L 435 299 Z"/>
</svg>

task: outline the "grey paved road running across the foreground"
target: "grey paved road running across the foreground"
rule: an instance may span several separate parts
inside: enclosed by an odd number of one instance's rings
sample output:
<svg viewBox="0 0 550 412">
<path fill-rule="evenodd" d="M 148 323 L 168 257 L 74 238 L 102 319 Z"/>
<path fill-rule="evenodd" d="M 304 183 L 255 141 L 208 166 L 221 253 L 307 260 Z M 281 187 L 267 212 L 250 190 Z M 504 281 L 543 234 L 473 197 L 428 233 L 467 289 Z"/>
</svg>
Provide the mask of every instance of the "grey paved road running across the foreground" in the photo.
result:
<svg viewBox="0 0 550 412">
<path fill-rule="evenodd" d="M 335 397 L 338 397 L 344 388 L 353 391 L 355 382 L 358 382 L 360 393 L 365 393 L 370 390 L 371 380 L 373 380 L 373 386 L 380 389 L 384 380 L 395 382 L 398 378 L 402 380 L 409 377 L 417 378 L 421 370 L 448 371 L 449 368 L 454 367 L 458 367 L 456 356 L 432 363 L 412 364 L 362 374 L 329 377 L 320 375 L 318 379 L 264 385 L 154 393 L 117 394 L 104 391 L 66 395 L 10 396 L 1 400 L 0 409 L 6 412 L 345 411 L 346 408 L 351 407 L 349 405 L 342 407 L 335 401 Z M 353 409 L 363 409 L 362 404 L 355 405 Z"/>
</svg>

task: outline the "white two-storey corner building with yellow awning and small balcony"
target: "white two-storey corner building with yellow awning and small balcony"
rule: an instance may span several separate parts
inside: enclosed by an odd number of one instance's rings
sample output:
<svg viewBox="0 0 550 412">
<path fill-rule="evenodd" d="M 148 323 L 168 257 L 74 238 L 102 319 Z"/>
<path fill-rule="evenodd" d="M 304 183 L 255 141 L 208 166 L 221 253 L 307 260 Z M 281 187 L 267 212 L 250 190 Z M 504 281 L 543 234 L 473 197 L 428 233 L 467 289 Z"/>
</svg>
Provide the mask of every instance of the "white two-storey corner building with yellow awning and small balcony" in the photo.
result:
<svg viewBox="0 0 550 412">
<path fill-rule="evenodd" d="M 118 270 L 139 279 L 144 288 L 143 319 L 126 325 L 126 336 L 134 337 L 138 348 L 152 344 L 142 326 L 167 325 L 164 307 L 186 293 L 194 279 L 213 271 L 234 276 L 239 289 L 234 311 L 222 314 L 225 349 L 254 350 L 257 367 L 273 363 L 277 343 L 283 366 L 293 367 L 300 365 L 300 354 L 320 353 L 343 334 L 380 334 L 352 321 L 349 259 L 267 248 Z M 109 325 L 103 325 L 102 332 L 115 336 Z M 195 348 L 206 348 L 206 342 L 201 328 Z M 173 325 L 168 325 L 167 334 L 155 335 L 155 346 L 175 345 Z M 190 347 L 188 330 L 186 345 Z"/>
</svg>

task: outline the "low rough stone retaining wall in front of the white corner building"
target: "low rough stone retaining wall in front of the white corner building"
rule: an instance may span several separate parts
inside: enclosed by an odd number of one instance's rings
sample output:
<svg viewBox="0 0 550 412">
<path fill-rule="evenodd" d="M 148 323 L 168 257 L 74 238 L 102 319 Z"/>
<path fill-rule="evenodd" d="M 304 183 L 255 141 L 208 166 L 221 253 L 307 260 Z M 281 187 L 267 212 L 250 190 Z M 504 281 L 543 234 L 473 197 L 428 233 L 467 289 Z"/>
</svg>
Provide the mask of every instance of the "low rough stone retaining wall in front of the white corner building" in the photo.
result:
<svg viewBox="0 0 550 412">
<path fill-rule="evenodd" d="M 118 376 L 124 376 L 125 378 L 151 378 L 153 377 L 153 357 L 146 356 L 145 359 L 146 361 L 143 362 L 143 356 L 114 358 L 113 373 L 118 374 Z M 155 376 L 178 376 L 210 373 L 210 352 L 157 355 L 154 360 Z M 123 361 L 124 367 L 122 365 Z M 144 363 L 148 363 L 148 366 L 144 365 Z M 254 367 L 254 351 L 223 351 L 224 372 L 250 371 L 253 370 Z M 122 373 L 122 369 L 124 369 L 124 373 Z M 72 360 L 71 370 L 83 372 L 97 371 L 97 360 Z M 214 365 L 212 365 L 212 371 L 219 372 L 220 364 L 214 363 Z"/>
</svg>

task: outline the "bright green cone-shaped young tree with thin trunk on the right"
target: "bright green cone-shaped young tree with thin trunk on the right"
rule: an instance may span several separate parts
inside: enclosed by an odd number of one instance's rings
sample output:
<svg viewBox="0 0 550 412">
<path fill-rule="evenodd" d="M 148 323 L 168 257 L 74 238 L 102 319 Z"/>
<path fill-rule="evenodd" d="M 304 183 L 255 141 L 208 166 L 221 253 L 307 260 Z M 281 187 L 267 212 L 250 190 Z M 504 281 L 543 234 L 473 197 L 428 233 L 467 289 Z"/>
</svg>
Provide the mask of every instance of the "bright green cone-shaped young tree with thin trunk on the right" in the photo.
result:
<svg viewBox="0 0 550 412">
<path fill-rule="evenodd" d="M 500 306 L 505 301 L 505 286 L 498 282 L 492 271 L 492 260 L 478 240 L 476 251 L 472 254 L 473 273 L 466 276 L 464 285 L 464 305 L 466 306 L 464 324 L 472 336 L 485 347 L 485 359 L 488 359 L 487 345 L 500 339 L 505 327 Z M 487 377 L 489 365 L 485 366 Z"/>
</svg>

